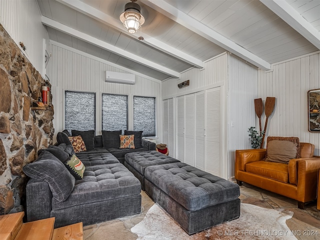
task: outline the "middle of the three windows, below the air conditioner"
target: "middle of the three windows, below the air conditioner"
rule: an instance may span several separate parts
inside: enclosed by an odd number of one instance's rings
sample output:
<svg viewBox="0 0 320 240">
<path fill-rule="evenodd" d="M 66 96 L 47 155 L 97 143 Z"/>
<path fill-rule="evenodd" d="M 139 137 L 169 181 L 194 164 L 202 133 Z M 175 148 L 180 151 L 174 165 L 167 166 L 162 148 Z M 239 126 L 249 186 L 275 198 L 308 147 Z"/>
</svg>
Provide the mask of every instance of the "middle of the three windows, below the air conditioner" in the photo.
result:
<svg viewBox="0 0 320 240">
<path fill-rule="evenodd" d="M 127 129 L 127 95 L 102 94 L 102 130 Z"/>
</svg>

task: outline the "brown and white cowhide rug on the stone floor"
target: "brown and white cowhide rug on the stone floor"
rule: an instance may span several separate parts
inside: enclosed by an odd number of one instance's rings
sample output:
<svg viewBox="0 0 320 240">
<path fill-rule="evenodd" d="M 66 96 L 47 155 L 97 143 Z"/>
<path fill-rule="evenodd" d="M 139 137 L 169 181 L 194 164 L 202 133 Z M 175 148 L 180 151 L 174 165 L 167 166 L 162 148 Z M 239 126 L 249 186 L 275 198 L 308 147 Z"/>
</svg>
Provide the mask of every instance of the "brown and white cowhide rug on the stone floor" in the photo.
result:
<svg viewBox="0 0 320 240">
<path fill-rule="evenodd" d="M 293 212 L 241 203 L 240 217 L 188 235 L 161 206 L 154 204 L 131 228 L 137 240 L 296 239 L 285 221 Z"/>
</svg>

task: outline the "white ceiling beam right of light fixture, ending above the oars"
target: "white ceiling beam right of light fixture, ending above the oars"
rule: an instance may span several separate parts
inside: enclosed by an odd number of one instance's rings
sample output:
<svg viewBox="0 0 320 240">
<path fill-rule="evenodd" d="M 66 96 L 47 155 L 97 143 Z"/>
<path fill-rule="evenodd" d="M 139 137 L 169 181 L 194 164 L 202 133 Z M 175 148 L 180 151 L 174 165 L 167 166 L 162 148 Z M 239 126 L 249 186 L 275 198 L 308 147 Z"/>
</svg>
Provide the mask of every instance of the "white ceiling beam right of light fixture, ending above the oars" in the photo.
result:
<svg viewBox="0 0 320 240">
<path fill-rule="evenodd" d="M 186 13 L 180 11 L 174 6 L 170 5 L 164 0 L 140 0 L 147 6 L 155 9 L 156 11 L 162 13 L 163 15 L 169 17 L 175 22 L 181 24 L 182 26 L 190 29 L 191 31 L 205 37 L 209 41 L 217 44 L 220 47 L 232 52 L 233 54 L 243 58 L 244 60 L 252 63 L 253 65 L 260 67 L 264 70 L 269 70 L 271 65 L 267 61 L 253 54 L 252 52 L 246 50 L 242 46 L 236 44 L 230 39 L 222 36 L 218 32 L 214 31 L 205 24 L 195 20 Z"/>
</svg>

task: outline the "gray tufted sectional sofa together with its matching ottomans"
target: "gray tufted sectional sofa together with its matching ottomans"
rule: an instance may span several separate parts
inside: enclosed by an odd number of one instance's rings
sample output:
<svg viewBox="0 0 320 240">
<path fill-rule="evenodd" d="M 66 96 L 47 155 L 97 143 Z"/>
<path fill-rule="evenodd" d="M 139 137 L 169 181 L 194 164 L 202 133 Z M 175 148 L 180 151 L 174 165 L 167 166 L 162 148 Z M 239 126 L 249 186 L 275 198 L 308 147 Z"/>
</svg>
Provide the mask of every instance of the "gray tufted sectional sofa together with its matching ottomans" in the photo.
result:
<svg viewBox="0 0 320 240">
<path fill-rule="evenodd" d="M 30 177 L 26 185 L 28 221 L 55 217 L 54 227 L 60 227 L 136 214 L 141 211 L 141 187 L 188 234 L 239 217 L 236 183 L 158 151 L 145 150 L 154 143 L 141 140 L 145 148 L 129 152 L 132 149 L 105 148 L 114 144 L 118 132 L 114 133 L 114 139 L 108 138 L 109 142 L 103 139 L 103 132 L 102 136 L 94 136 L 94 140 L 92 133 L 89 137 L 87 134 L 82 137 L 88 145 L 86 151 L 74 153 L 70 142 L 60 143 L 39 150 L 38 158 L 23 167 Z M 59 134 L 58 142 L 65 137 L 65 133 Z M 117 155 L 119 150 L 124 150 L 121 155 Z M 85 167 L 82 179 L 65 167 L 74 154 Z M 119 161 L 123 156 L 124 165 Z"/>
</svg>

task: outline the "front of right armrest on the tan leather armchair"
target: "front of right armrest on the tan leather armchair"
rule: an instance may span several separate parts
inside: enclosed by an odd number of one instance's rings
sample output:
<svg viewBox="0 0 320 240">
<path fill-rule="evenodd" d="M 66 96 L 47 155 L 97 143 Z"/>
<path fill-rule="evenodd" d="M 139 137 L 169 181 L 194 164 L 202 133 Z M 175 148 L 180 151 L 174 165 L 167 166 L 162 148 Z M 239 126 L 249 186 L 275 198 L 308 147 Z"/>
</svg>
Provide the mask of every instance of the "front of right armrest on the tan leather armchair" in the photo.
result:
<svg viewBox="0 0 320 240">
<path fill-rule="evenodd" d="M 297 161 L 297 200 L 306 202 L 316 198 L 320 157 L 300 158 Z"/>
</svg>

